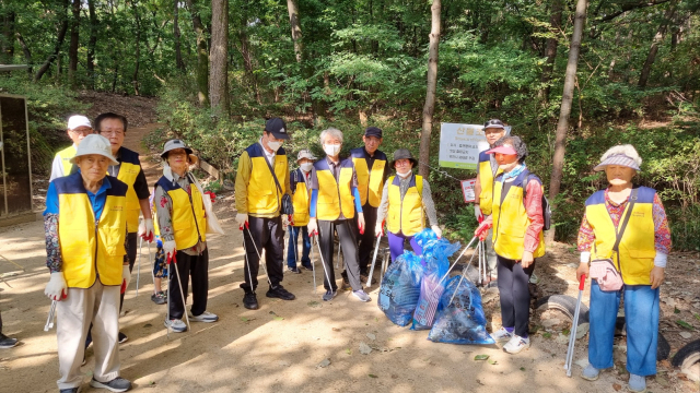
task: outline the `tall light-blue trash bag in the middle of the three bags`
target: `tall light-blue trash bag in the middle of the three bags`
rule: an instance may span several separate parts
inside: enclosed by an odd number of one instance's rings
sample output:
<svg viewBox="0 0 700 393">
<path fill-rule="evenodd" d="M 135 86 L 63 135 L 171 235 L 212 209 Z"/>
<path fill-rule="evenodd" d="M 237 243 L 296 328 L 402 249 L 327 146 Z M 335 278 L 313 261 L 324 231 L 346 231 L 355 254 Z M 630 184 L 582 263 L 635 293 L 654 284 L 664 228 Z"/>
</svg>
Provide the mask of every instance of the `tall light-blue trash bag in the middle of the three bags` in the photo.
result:
<svg viewBox="0 0 700 393">
<path fill-rule="evenodd" d="M 450 269 L 450 255 L 459 250 L 459 242 L 454 245 L 445 239 L 438 239 L 432 229 L 423 229 L 416 235 L 423 248 L 423 264 L 425 274 L 420 283 L 420 298 L 413 312 L 411 330 L 428 330 L 433 324 L 435 313 L 440 308 L 440 297 L 445 289 L 445 282 L 440 279 Z"/>
</svg>

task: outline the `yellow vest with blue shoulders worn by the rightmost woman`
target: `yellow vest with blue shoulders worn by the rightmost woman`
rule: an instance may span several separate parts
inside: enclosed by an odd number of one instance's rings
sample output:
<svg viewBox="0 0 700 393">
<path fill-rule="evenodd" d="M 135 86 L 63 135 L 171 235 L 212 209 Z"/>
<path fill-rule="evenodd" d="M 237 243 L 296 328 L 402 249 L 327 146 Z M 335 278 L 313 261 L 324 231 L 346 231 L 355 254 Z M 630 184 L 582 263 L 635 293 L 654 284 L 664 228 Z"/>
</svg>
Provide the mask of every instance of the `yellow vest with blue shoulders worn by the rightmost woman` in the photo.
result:
<svg viewBox="0 0 700 393">
<path fill-rule="evenodd" d="M 611 258 L 616 267 L 619 259 L 622 281 L 627 285 L 651 285 L 650 274 L 654 267 L 654 257 L 656 257 L 654 218 L 652 216 L 654 194 L 656 194 L 654 189 L 639 188 L 630 221 L 620 239 L 619 255 L 612 252 L 617 230 L 605 206 L 605 191 L 595 192 L 586 201 L 586 219 L 595 234 L 595 247 L 591 250 L 591 259 Z M 628 202 L 622 218 L 629 207 Z M 622 218 L 620 218 L 620 224 Z"/>
</svg>

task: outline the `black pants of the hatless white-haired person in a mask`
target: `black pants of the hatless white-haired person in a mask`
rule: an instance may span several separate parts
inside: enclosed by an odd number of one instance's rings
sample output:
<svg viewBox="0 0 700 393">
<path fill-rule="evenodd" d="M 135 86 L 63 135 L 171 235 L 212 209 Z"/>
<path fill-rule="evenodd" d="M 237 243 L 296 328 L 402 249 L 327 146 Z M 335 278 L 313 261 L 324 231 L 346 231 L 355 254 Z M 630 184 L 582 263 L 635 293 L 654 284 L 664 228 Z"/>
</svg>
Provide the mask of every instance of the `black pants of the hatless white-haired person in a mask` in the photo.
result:
<svg viewBox="0 0 700 393">
<path fill-rule="evenodd" d="M 324 288 L 326 288 L 326 290 L 338 290 L 336 272 L 332 269 L 332 257 L 335 254 L 332 241 L 334 230 L 338 231 L 338 239 L 342 248 L 350 286 L 352 286 L 352 290 L 362 289 L 362 283 L 360 283 L 360 266 L 358 265 L 358 241 L 354 237 L 354 230 L 350 228 L 350 225 L 354 225 L 352 219 L 318 221 L 318 242 L 325 262 L 324 271 L 328 274 L 328 277 L 326 277 L 324 273 Z"/>
</svg>

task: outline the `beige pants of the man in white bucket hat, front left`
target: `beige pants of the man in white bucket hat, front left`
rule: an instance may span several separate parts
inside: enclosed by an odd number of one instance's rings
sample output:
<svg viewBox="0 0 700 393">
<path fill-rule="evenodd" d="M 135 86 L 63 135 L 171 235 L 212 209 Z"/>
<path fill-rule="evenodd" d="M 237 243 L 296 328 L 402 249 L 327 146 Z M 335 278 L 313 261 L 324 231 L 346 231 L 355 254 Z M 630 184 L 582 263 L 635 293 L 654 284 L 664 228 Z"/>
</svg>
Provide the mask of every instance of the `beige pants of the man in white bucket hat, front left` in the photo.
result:
<svg viewBox="0 0 700 393">
<path fill-rule="evenodd" d="M 68 288 L 68 297 L 57 303 L 58 389 L 78 388 L 83 382 L 80 366 L 85 355 L 85 337 L 92 323 L 95 353 L 94 379 L 108 382 L 119 377 L 119 286 L 104 286 L 100 279 L 88 289 Z"/>
</svg>

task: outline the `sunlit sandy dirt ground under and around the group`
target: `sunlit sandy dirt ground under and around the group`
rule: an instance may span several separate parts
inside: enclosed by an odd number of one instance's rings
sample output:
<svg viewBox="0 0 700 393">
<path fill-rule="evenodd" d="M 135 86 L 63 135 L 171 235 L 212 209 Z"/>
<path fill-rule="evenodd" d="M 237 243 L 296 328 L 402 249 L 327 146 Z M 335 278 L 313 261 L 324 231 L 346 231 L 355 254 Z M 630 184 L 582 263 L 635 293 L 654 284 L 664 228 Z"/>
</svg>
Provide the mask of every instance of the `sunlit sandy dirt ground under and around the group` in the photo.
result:
<svg viewBox="0 0 700 393">
<path fill-rule="evenodd" d="M 105 102 L 108 104 L 108 99 Z M 100 110 L 102 111 L 102 109 Z M 140 143 L 158 130 L 149 121 L 130 128 L 125 145 L 141 153 L 149 183 L 160 177 L 158 151 Z M 136 123 L 136 122 L 135 122 Z M 39 203 L 40 200 L 37 200 Z M 40 204 L 40 203 L 39 203 Z M 612 370 L 600 379 L 581 379 L 587 362 L 587 338 L 576 342 L 573 377 L 563 370 L 570 320 L 558 311 L 533 311 L 532 347 L 509 355 L 500 346 L 436 344 L 427 331 L 409 331 L 386 319 L 376 306 L 378 287 L 368 290 L 372 301 L 357 301 L 350 291 L 329 302 L 320 299 L 323 285 L 313 288 L 313 275 L 285 274 L 284 286 L 296 295 L 294 301 L 265 297 L 261 275 L 258 289 L 260 309 L 243 307 L 244 253 L 235 226 L 233 192 L 222 192 L 214 204 L 226 235 L 208 237 L 210 250 L 208 310 L 219 314 L 217 323 L 191 323 L 191 331 L 171 333 L 163 326 L 165 306 L 150 300 L 153 283 L 152 258 L 143 245 L 127 291 L 120 329 L 129 341 L 120 345 L 121 376 L 143 392 L 614 392 L 625 390 L 626 343 L 616 338 Z M 45 267 L 44 226 L 40 221 L 0 228 L 0 274 L 12 285 L 0 283 L 3 333 L 21 345 L 0 349 L 0 390 L 7 392 L 52 392 L 58 379 L 56 332 L 44 332 L 50 301 L 44 296 L 48 279 Z M 469 257 L 467 254 L 466 257 Z M 315 259 L 318 257 L 316 255 Z M 318 262 L 318 261 L 316 261 Z M 318 266 L 318 263 L 316 263 Z M 538 296 L 576 296 L 574 248 L 556 243 L 537 261 Z M 139 291 L 137 271 L 140 272 Z M 675 354 L 700 332 L 700 254 L 673 253 L 662 286 L 661 331 Z M 264 273 L 261 271 L 261 273 Z M 339 276 L 339 275 L 338 275 Z M 317 277 L 322 283 L 322 275 Z M 375 273 L 375 279 L 380 278 Z M 340 283 L 340 282 L 339 282 Z M 483 293 L 489 331 L 500 327 L 498 291 Z M 588 302 L 586 286 L 584 302 Z M 188 298 L 191 303 L 191 297 Z M 682 327 L 682 321 L 691 329 Z M 689 333 L 690 335 L 686 334 Z M 369 345 L 369 355 L 360 346 Z M 477 361 L 489 355 L 490 361 Z M 94 367 L 93 348 L 86 350 L 84 392 Z M 700 373 L 700 369 L 691 370 Z M 690 376 L 693 378 L 693 376 Z M 658 362 L 658 373 L 648 379 L 652 392 L 699 391 L 668 360 Z"/>
</svg>

